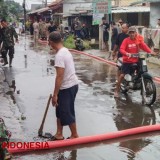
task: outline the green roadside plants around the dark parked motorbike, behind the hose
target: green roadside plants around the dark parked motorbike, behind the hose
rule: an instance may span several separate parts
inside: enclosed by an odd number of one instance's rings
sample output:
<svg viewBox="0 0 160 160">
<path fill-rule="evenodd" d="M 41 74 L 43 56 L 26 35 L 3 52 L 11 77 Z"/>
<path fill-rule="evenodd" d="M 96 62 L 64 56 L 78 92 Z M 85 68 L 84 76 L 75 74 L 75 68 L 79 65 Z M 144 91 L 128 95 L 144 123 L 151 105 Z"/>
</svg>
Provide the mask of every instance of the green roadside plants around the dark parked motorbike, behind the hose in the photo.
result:
<svg viewBox="0 0 160 160">
<path fill-rule="evenodd" d="M 75 49 L 75 40 L 74 40 L 74 35 L 70 35 L 65 41 L 64 41 L 64 46 L 68 49 Z M 83 45 L 85 49 L 91 49 L 90 42 L 88 40 L 83 41 Z"/>
</svg>

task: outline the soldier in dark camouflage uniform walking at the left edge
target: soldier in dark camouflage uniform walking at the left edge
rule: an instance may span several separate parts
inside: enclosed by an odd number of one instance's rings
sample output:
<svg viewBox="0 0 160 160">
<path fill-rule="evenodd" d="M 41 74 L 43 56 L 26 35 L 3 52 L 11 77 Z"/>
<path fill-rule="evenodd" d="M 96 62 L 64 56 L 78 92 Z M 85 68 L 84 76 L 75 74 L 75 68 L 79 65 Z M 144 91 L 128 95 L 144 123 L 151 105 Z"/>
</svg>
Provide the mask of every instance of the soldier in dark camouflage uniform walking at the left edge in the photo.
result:
<svg viewBox="0 0 160 160">
<path fill-rule="evenodd" d="M 14 57 L 14 38 L 18 42 L 18 35 L 15 29 L 12 26 L 8 26 L 8 23 L 5 19 L 1 20 L 2 25 L 2 48 L 1 54 L 4 60 L 3 66 L 8 64 L 7 53 L 9 55 L 9 67 L 12 67 L 12 59 Z"/>
</svg>

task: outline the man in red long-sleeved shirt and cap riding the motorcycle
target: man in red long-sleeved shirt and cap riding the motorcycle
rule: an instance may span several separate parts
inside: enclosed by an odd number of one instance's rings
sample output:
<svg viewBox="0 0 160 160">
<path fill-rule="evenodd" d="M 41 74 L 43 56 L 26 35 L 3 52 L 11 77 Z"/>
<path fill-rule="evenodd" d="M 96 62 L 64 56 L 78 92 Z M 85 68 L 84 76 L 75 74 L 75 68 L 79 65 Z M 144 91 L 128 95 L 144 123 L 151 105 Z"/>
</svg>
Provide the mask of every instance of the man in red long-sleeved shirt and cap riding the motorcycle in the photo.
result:
<svg viewBox="0 0 160 160">
<path fill-rule="evenodd" d="M 114 93 L 115 97 L 119 97 L 120 85 L 124 76 L 130 74 L 133 63 L 138 63 L 138 58 L 131 57 L 132 54 L 139 53 L 142 49 L 147 53 L 156 55 L 151 49 L 141 40 L 137 40 L 137 32 L 135 27 L 130 27 L 128 30 L 129 37 L 124 39 L 120 47 L 120 52 L 123 55 L 122 73 L 118 78 L 118 83 Z"/>
</svg>

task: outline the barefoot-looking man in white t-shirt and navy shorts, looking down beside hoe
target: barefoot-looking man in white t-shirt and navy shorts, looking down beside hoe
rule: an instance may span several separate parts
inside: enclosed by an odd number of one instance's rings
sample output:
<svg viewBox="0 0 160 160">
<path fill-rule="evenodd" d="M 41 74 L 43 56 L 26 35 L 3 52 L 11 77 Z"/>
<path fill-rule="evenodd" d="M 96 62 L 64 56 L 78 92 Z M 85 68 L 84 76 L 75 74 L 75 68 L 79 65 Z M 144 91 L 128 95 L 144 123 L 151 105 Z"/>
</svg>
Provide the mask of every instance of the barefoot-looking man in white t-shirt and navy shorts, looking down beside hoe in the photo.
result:
<svg viewBox="0 0 160 160">
<path fill-rule="evenodd" d="M 51 140 L 63 140 L 63 126 L 69 125 L 71 135 L 78 138 L 74 101 L 78 92 L 78 78 L 72 54 L 63 46 L 61 34 L 54 31 L 49 35 L 49 45 L 56 50 L 56 80 L 52 104 L 56 107 L 57 132 Z"/>
</svg>

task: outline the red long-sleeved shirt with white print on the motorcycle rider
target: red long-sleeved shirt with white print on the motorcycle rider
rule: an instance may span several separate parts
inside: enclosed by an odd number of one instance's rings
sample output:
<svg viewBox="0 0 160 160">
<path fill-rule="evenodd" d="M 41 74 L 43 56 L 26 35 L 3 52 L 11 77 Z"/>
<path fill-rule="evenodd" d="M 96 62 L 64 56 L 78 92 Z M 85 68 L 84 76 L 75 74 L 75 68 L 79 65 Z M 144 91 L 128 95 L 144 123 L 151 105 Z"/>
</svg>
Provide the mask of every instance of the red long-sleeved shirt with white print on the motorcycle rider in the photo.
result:
<svg viewBox="0 0 160 160">
<path fill-rule="evenodd" d="M 133 57 L 129 58 L 128 56 L 126 56 L 126 54 L 127 53 L 130 53 L 130 54 L 139 53 L 140 49 L 142 49 L 143 51 L 147 53 L 151 53 L 151 49 L 143 41 L 139 41 L 137 43 L 137 39 L 131 40 L 130 37 L 124 39 L 120 47 L 120 52 L 123 55 L 123 62 L 124 63 L 138 62 L 138 58 L 133 58 Z"/>
</svg>

